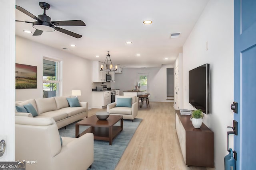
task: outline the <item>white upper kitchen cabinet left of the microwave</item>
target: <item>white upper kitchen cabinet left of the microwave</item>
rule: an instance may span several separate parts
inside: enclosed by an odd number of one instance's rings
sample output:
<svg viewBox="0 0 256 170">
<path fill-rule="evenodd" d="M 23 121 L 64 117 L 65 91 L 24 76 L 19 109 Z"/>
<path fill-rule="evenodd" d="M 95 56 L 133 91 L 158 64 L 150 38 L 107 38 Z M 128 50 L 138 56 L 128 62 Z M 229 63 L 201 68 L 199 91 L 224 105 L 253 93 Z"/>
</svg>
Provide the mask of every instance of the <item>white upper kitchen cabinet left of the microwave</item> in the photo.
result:
<svg viewBox="0 0 256 170">
<path fill-rule="evenodd" d="M 100 71 L 100 61 L 92 61 L 92 82 L 106 82 L 106 72 Z"/>
</svg>

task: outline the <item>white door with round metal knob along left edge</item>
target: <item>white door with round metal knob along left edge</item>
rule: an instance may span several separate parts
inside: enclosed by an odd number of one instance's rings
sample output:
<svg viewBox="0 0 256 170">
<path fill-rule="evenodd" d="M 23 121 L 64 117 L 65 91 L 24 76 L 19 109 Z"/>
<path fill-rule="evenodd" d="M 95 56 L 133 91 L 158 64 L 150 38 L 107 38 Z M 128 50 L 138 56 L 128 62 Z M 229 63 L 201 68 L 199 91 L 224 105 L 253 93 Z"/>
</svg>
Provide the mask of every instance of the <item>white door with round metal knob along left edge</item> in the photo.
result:
<svg viewBox="0 0 256 170">
<path fill-rule="evenodd" d="M 2 0 L 0 10 L 0 141 L 6 141 L 6 150 L 0 161 L 14 161 L 14 76 L 15 76 L 15 0 Z"/>
</svg>

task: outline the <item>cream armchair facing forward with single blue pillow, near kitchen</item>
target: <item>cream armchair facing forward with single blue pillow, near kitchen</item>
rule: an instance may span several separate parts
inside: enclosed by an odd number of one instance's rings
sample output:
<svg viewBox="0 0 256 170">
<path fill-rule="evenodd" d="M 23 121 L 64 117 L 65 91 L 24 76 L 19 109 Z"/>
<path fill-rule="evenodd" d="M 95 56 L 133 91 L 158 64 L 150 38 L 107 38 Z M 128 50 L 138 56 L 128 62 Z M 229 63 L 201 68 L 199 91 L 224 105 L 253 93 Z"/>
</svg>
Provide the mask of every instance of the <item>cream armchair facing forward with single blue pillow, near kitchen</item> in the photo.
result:
<svg viewBox="0 0 256 170">
<path fill-rule="evenodd" d="M 117 98 L 132 98 L 131 107 L 116 107 Z M 138 115 L 138 97 L 137 96 L 119 96 L 116 95 L 116 102 L 107 105 L 107 112 L 110 115 L 122 115 L 124 119 L 132 121 Z"/>
</svg>

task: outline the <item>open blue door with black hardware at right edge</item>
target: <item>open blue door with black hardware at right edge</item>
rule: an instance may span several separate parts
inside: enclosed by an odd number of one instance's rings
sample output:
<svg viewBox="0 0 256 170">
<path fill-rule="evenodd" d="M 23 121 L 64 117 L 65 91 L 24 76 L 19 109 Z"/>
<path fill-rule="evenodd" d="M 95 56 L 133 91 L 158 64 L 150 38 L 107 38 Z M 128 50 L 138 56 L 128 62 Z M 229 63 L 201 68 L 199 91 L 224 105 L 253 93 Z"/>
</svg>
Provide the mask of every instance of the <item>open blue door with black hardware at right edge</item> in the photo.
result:
<svg viewBox="0 0 256 170">
<path fill-rule="evenodd" d="M 236 169 L 256 167 L 256 1 L 234 0 L 234 100 L 238 102 Z"/>
</svg>

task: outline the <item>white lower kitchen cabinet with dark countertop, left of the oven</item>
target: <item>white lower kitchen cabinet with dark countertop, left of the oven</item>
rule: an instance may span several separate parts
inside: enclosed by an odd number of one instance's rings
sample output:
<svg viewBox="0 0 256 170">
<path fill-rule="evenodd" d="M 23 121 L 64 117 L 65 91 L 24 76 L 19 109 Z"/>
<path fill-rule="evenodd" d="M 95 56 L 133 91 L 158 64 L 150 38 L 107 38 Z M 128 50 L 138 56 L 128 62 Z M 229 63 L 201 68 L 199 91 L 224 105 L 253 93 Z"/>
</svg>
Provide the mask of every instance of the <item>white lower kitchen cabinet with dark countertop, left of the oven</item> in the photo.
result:
<svg viewBox="0 0 256 170">
<path fill-rule="evenodd" d="M 111 91 L 93 91 L 92 108 L 104 108 L 111 103 Z"/>
</svg>

